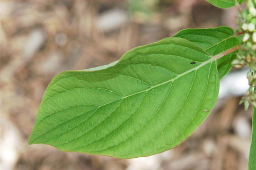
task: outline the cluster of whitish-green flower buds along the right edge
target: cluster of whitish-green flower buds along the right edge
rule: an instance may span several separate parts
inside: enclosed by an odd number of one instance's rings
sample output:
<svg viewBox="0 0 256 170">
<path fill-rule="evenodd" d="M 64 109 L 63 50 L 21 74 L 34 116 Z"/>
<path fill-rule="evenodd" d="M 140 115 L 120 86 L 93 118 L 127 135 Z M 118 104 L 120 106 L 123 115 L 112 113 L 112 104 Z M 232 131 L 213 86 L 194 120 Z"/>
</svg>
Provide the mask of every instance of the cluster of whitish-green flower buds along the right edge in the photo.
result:
<svg viewBox="0 0 256 170">
<path fill-rule="evenodd" d="M 247 110 L 252 104 L 256 107 L 256 0 L 247 1 L 247 9 L 238 14 L 239 32 L 245 33 L 241 50 L 238 53 L 237 59 L 232 61 L 235 68 L 247 66 L 250 71 L 247 74 L 248 84 L 250 85 L 246 95 L 240 101 L 244 103 Z"/>
</svg>

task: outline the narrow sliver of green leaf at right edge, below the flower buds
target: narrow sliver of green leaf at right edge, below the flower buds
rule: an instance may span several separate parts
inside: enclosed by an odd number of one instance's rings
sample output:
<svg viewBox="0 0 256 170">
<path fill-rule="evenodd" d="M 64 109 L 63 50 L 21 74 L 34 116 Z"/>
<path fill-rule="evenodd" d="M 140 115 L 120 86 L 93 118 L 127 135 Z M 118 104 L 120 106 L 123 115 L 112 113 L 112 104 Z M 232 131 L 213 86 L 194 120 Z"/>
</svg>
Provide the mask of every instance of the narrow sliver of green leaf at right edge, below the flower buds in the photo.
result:
<svg viewBox="0 0 256 170">
<path fill-rule="evenodd" d="M 249 155 L 249 169 L 256 170 L 256 108 L 254 108 L 252 119 L 252 142 Z"/>
</svg>

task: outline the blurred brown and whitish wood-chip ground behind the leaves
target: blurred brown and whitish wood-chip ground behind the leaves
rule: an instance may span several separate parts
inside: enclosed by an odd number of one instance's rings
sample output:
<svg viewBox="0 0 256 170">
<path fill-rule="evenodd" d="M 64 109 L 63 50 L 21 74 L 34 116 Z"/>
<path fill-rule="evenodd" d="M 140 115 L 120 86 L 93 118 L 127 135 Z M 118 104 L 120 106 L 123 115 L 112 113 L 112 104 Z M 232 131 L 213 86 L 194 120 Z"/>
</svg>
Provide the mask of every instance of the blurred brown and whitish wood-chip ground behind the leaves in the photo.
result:
<svg viewBox="0 0 256 170">
<path fill-rule="evenodd" d="M 238 106 L 243 70 L 221 82 L 210 116 L 170 151 L 121 160 L 27 144 L 57 73 L 111 63 L 184 28 L 236 28 L 236 14 L 205 0 L 0 0 L 0 170 L 247 170 L 252 109 Z"/>
</svg>

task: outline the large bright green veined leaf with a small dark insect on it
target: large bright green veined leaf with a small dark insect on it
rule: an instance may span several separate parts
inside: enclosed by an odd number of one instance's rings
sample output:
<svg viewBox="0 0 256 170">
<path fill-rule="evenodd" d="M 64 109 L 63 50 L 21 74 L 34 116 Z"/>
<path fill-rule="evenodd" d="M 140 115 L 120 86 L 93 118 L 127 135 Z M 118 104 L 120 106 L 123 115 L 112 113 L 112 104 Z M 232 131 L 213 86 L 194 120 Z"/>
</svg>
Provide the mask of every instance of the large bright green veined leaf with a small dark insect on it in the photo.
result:
<svg viewBox="0 0 256 170">
<path fill-rule="evenodd" d="M 165 38 L 96 71 L 65 71 L 47 87 L 29 144 L 118 158 L 180 144 L 211 112 L 216 60 L 194 43 Z"/>
</svg>

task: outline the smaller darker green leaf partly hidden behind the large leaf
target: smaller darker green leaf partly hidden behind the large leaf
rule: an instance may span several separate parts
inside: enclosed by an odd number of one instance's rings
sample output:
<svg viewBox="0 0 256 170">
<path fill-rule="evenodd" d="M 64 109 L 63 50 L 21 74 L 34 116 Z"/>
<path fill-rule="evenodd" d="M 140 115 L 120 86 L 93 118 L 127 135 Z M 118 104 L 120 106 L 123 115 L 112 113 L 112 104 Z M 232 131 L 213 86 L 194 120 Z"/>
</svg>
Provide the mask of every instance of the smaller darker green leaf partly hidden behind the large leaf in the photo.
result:
<svg viewBox="0 0 256 170">
<path fill-rule="evenodd" d="M 216 55 L 239 44 L 234 37 L 234 30 L 227 26 L 208 29 L 185 29 L 173 37 L 184 38 L 201 47 L 211 55 Z M 226 76 L 232 68 L 232 60 L 236 59 L 237 51 L 218 59 L 217 68 L 220 79 Z"/>
</svg>

